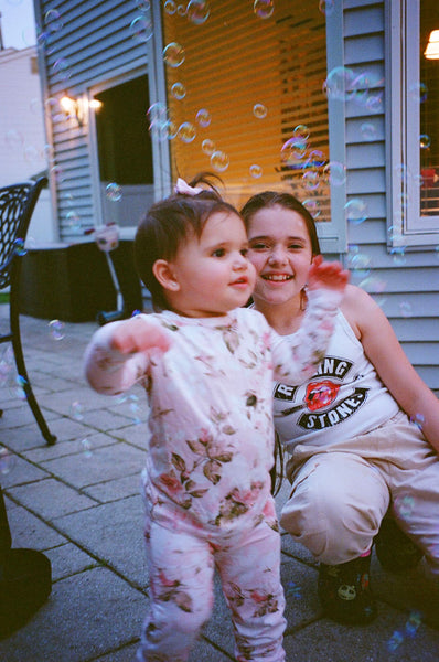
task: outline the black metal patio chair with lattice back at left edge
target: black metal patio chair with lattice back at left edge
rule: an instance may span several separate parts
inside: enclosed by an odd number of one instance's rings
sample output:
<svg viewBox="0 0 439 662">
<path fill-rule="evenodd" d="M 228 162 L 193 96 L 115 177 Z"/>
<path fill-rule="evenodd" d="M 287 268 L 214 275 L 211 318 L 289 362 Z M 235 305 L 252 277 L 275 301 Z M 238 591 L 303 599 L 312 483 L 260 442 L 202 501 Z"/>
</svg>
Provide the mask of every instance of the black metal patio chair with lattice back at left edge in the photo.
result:
<svg viewBox="0 0 439 662">
<path fill-rule="evenodd" d="M 24 363 L 20 335 L 20 274 L 29 225 L 42 188 L 47 183 L 45 177 L 36 182 L 23 182 L 0 189 L 0 290 L 9 287 L 9 331 L 0 334 L 0 344 L 11 342 L 20 377 L 20 387 L 39 428 L 47 445 L 56 437 L 51 434 L 33 394 Z M 3 412 L 0 409 L 0 416 Z"/>
</svg>

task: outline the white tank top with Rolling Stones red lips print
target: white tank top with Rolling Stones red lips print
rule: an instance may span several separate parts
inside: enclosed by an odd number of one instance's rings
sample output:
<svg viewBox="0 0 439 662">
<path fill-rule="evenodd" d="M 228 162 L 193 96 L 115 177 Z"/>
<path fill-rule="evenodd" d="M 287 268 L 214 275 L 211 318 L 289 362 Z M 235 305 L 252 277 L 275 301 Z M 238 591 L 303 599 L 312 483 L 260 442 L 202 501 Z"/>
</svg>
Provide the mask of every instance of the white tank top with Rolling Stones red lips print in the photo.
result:
<svg viewBox="0 0 439 662">
<path fill-rule="evenodd" d="M 399 410 L 347 320 L 338 311 L 326 356 L 299 386 L 276 383 L 275 425 L 286 450 L 330 447 L 370 431 Z"/>
</svg>

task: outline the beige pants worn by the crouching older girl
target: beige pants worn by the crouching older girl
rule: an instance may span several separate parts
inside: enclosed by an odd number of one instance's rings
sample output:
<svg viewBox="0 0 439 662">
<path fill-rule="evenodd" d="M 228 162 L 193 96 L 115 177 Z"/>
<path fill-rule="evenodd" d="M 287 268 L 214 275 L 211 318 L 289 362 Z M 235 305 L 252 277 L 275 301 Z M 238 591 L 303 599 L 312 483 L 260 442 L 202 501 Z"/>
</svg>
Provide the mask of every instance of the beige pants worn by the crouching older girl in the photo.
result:
<svg viewBox="0 0 439 662">
<path fill-rule="evenodd" d="M 280 524 L 318 560 L 367 552 L 390 509 L 439 575 L 439 457 L 404 413 L 329 448 L 298 445 L 288 469 Z"/>
</svg>

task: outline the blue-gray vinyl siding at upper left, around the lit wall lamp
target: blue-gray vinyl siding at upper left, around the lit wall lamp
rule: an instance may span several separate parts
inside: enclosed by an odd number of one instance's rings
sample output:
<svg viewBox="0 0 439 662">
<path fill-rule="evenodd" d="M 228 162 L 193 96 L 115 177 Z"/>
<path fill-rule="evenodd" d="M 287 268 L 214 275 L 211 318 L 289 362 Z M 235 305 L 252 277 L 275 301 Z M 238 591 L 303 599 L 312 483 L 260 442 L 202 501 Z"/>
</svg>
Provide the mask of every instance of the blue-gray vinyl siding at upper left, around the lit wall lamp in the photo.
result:
<svg viewBox="0 0 439 662">
<path fill-rule="evenodd" d="M 131 22 L 141 15 L 136 2 L 34 0 L 34 6 L 43 32 L 49 10 L 56 9 L 62 23 L 51 33 L 49 47 L 40 49 L 44 99 L 60 98 L 64 92 L 77 98 L 93 86 L 146 68 L 147 44 L 136 41 L 130 32 Z M 57 71 L 63 61 L 68 77 Z M 60 238 L 77 242 L 84 237 L 83 231 L 96 223 L 89 128 L 66 122 L 61 116 L 54 120 L 46 117 L 46 131 L 54 148 L 50 167 L 60 171 L 56 183 L 52 183 Z M 79 217 L 79 226 L 76 222 L 72 225 L 71 212 Z"/>
</svg>

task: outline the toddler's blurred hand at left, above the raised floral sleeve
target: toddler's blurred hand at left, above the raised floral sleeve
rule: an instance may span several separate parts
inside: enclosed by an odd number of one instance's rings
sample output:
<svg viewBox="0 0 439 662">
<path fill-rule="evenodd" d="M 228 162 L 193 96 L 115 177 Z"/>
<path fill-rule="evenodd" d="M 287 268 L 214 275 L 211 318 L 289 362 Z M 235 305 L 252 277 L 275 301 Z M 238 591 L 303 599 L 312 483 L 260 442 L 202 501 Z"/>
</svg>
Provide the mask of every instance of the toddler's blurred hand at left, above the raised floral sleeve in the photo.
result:
<svg viewBox="0 0 439 662">
<path fill-rule="evenodd" d="M 121 354 L 135 354 L 148 350 L 167 352 L 171 346 L 169 335 L 156 324 L 148 322 L 148 318 L 136 316 L 117 324 L 111 339 L 111 350 Z"/>
</svg>

